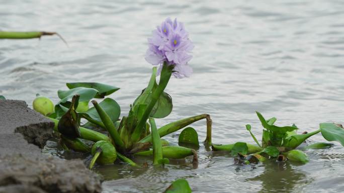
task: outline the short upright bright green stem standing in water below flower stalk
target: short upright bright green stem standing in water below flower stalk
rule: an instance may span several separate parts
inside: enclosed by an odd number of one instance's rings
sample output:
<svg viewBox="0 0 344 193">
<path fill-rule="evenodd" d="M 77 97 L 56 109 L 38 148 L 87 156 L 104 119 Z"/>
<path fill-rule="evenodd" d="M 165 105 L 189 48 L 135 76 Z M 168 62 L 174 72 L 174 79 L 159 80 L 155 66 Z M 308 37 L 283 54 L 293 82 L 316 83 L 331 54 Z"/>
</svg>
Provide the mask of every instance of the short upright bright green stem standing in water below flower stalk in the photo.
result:
<svg viewBox="0 0 344 193">
<path fill-rule="evenodd" d="M 153 164 L 159 164 L 159 160 L 162 159 L 162 149 L 159 133 L 156 129 L 156 124 L 153 118 L 149 118 L 151 135 L 152 135 L 152 146 L 153 146 Z"/>
</svg>

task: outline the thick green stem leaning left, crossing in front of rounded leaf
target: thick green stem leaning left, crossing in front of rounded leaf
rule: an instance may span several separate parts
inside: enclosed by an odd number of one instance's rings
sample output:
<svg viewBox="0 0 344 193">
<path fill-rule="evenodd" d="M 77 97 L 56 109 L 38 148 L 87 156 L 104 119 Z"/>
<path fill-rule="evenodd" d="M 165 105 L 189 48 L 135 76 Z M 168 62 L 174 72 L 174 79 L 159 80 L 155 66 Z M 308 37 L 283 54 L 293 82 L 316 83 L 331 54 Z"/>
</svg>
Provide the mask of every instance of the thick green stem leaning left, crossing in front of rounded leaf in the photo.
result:
<svg viewBox="0 0 344 193">
<path fill-rule="evenodd" d="M 95 106 L 100 118 L 102 119 L 102 122 L 105 125 L 106 130 L 109 132 L 113 142 L 116 145 L 116 148 L 119 148 L 120 150 L 124 150 L 125 146 L 124 143 L 114 125 L 109 115 L 104 111 L 104 109 L 97 103 L 97 101 L 92 101 L 93 105 Z"/>
</svg>

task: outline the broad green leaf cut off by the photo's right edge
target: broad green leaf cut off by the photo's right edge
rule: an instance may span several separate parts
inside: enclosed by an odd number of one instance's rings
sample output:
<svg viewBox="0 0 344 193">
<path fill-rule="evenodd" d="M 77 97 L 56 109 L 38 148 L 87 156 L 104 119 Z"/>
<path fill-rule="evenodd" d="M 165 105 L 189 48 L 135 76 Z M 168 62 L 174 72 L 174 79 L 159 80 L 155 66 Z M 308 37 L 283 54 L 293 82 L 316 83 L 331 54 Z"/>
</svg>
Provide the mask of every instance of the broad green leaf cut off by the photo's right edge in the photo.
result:
<svg viewBox="0 0 344 193">
<path fill-rule="evenodd" d="M 327 141 L 338 141 L 344 146 L 344 129 L 334 123 L 320 123 L 320 131 Z"/>
</svg>

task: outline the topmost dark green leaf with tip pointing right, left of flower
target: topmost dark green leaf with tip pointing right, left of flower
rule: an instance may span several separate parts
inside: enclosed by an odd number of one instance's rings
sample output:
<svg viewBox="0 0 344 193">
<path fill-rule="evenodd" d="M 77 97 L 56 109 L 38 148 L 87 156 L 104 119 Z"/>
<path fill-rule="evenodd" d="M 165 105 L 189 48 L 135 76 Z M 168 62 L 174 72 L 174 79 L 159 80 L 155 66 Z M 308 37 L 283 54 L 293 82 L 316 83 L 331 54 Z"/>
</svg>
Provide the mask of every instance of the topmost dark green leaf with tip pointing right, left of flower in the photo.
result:
<svg viewBox="0 0 344 193">
<path fill-rule="evenodd" d="M 71 83 L 66 83 L 66 85 L 69 89 L 78 88 L 78 87 L 94 88 L 98 91 L 95 98 L 104 98 L 105 96 L 110 95 L 120 89 L 115 86 L 102 84 L 102 83 L 96 83 L 96 82 L 71 82 Z"/>
</svg>

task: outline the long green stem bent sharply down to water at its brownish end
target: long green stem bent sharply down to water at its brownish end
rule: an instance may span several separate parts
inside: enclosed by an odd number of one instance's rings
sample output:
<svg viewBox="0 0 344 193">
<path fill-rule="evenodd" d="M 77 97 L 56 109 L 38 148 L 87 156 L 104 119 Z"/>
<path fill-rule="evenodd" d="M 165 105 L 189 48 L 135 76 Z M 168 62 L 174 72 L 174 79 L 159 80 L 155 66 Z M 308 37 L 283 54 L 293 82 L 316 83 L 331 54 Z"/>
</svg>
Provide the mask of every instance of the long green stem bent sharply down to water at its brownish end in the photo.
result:
<svg viewBox="0 0 344 193">
<path fill-rule="evenodd" d="M 163 137 L 169 133 L 173 133 L 175 131 L 178 131 L 179 129 L 182 129 L 182 128 L 190 125 L 193 122 L 199 121 L 201 119 L 205 119 L 205 118 L 207 118 L 207 116 L 209 116 L 209 115 L 208 114 L 201 114 L 201 115 L 181 119 L 179 121 L 175 121 L 175 122 L 169 123 L 167 125 L 164 125 L 164 126 L 160 127 L 157 131 L 159 133 L 159 136 Z M 210 136 L 208 134 L 210 134 Z M 207 138 L 210 139 L 210 142 L 211 142 L 211 127 L 209 127 L 209 130 L 207 127 Z M 141 139 L 139 142 L 141 142 L 141 143 L 151 142 L 151 140 L 152 140 L 152 137 L 151 137 L 151 134 L 149 134 L 146 137 L 144 137 L 143 139 Z"/>
</svg>

